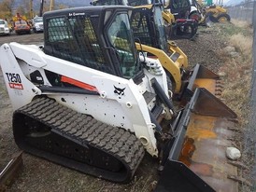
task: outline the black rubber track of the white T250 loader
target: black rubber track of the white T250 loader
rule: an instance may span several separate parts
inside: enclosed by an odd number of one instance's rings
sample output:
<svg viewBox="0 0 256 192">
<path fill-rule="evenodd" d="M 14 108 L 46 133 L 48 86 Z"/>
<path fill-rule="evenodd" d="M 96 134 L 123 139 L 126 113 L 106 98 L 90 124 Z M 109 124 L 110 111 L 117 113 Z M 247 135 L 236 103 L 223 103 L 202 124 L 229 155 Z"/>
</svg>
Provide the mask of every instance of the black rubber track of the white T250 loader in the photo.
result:
<svg viewBox="0 0 256 192">
<path fill-rule="evenodd" d="M 16 110 L 13 133 L 16 144 L 28 153 L 113 182 L 129 182 L 144 157 L 133 133 L 49 98 Z"/>
</svg>

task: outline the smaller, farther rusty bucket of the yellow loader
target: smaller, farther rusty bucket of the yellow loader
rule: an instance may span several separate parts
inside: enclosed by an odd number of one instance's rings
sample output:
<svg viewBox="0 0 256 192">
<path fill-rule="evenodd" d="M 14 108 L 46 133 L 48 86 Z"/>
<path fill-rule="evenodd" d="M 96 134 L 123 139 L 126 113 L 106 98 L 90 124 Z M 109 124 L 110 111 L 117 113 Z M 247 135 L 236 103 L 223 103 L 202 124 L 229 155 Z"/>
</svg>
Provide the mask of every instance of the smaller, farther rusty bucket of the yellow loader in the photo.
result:
<svg viewBox="0 0 256 192">
<path fill-rule="evenodd" d="M 188 83 L 182 93 L 182 99 L 189 101 L 196 88 L 205 88 L 213 95 L 221 94 L 220 76 L 208 70 L 205 66 L 196 64 L 189 75 Z"/>
</svg>

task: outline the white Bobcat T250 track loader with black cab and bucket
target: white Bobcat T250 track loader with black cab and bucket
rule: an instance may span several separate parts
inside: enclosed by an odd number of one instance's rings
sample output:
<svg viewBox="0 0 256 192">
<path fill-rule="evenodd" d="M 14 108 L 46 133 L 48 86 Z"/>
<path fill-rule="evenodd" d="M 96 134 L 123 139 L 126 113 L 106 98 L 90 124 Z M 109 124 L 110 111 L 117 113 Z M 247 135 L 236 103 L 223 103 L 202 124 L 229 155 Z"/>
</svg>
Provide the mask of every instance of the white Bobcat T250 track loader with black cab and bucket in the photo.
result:
<svg viewBox="0 0 256 192">
<path fill-rule="evenodd" d="M 47 12 L 43 48 L 1 46 L 16 144 L 121 183 L 133 178 L 146 150 L 163 170 L 156 191 L 235 191 L 223 158 L 235 113 L 201 88 L 176 110 L 161 63 L 137 54 L 131 11 Z"/>
</svg>

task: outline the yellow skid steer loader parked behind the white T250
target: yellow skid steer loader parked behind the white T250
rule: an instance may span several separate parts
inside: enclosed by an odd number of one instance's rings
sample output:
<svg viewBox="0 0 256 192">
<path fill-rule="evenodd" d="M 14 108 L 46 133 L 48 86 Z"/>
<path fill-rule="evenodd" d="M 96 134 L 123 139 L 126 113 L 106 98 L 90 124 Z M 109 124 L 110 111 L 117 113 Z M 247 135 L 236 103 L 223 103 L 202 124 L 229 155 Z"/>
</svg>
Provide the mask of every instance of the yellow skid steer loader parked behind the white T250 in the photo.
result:
<svg viewBox="0 0 256 192">
<path fill-rule="evenodd" d="M 161 16 L 163 5 L 154 3 L 141 6 L 143 3 L 147 3 L 147 1 L 128 1 L 125 3 L 124 1 L 95 0 L 92 5 L 132 4 L 136 6 L 133 8 L 130 19 L 135 41 L 139 42 L 135 44 L 136 48 L 143 53 L 147 52 L 149 57 L 161 62 L 170 82 L 168 87 L 173 89 L 175 99 L 190 99 L 195 87 L 204 87 L 211 93 L 220 95 L 220 76 L 199 64 L 193 70 L 187 70 L 187 56 L 175 42 L 167 40 L 164 21 Z M 191 81 L 188 86 L 188 79 L 190 78 Z"/>
</svg>

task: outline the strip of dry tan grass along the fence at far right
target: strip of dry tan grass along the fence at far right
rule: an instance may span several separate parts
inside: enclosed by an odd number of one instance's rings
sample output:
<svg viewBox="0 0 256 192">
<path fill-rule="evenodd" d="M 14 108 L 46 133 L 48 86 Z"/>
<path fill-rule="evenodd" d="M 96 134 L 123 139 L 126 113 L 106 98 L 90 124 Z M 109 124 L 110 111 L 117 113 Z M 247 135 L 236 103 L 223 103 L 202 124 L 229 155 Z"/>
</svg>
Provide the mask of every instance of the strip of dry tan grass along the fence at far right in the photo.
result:
<svg viewBox="0 0 256 192">
<path fill-rule="evenodd" d="M 232 28 L 238 28 L 231 30 Z M 240 33 L 234 34 L 234 32 Z M 249 170 L 239 170 L 239 176 L 245 178 L 250 184 L 255 181 L 255 176 L 252 173 L 255 161 L 255 146 L 256 142 L 253 137 L 255 131 L 254 126 L 250 126 L 249 119 L 253 110 L 250 108 L 250 89 L 251 78 L 253 73 L 252 66 L 252 39 L 253 33 L 249 25 L 243 22 L 235 22 L 235 26 L 228 28 L 227 32 L 232 34 L 229 37 L 228 45 L 235 47 L 235 51 L 238 53 L 236 57 L 232 58 L 230 54 L 221 52 L 224 64 L 220 68 L 220 72 L 223 72 L 225 89 L 222 92 L 224 102 L 230 106 L 238 116 L 239 124 L 237 125 L 242 134 L 237 135 L 237 145 L 242 150 L 242 158 L 240 159 L 245 165 L 249 167 Z M 247 31 L 245 33 L 245 31 Z M 229 34 L 224 34 L 228 36 Z M 250 140 L 250 141 L 248 141 Z M 252 189 L 247 183 L 240 185 L 240 191 L 250 192 Z"/>
</svg>

